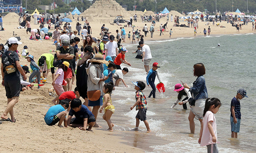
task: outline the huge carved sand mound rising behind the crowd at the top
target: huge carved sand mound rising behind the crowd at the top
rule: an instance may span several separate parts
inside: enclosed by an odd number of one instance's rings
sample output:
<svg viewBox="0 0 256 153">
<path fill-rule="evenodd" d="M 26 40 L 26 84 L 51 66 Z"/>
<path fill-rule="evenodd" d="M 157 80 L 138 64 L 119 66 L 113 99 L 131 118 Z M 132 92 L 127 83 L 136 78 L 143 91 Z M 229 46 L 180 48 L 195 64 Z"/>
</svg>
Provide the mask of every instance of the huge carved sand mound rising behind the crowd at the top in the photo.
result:
<svg viewBox="0 0 256 153">
<path fill-rule="evenodd" d="M 90 8 L 85 10 L 84 13 L 87 15 L 93 14 L 93 17 L 130 16 L 130 14 L 114 0 L 97 0 Z"/>
</svg>

